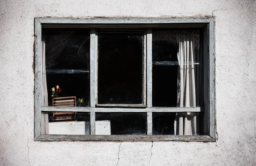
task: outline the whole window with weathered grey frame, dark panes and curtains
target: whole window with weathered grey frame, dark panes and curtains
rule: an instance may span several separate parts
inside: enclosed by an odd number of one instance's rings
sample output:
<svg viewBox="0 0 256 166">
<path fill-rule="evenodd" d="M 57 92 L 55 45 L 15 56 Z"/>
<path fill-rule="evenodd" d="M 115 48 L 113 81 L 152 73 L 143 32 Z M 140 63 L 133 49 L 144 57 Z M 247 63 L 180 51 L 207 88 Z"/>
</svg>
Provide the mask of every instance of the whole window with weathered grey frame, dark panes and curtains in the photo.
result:
<svg viewBox="0 0 256 166">
<path fill-rule="evenodd" d="M 35 140 L 215 141 L 213 21 L 35 18 Z"/>
</svg>

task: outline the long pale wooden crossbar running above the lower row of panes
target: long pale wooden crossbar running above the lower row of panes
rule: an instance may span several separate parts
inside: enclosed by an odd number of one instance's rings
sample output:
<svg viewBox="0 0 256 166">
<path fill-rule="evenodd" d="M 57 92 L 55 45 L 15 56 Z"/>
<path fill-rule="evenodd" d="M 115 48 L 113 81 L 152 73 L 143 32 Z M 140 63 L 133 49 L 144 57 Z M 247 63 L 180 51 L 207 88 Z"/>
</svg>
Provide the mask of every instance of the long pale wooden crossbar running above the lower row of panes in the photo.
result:
<svg viewBox="0 0 256 166">
<path fill-rule="evenodd" d="M 147 108 L 99 108 L 99 107 L 42 107 L 45 112 L 98 112 L 98 113 L 180 113 L 204 112 L 200 107 L 147 107 Z"/>
</svg>

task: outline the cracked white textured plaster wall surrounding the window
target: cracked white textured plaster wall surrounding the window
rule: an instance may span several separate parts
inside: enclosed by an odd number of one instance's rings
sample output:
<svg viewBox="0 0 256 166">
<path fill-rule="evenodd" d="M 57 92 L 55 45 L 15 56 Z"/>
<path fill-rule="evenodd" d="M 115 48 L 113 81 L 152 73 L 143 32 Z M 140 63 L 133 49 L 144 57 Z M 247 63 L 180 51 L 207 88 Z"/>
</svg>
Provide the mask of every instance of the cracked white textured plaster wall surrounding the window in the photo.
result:
<svg viewBox="0 0 256 166">
<path fill-rule="evenodd" d="M 256 165 L 255 0 L 0 0 L 0 165 Z M 34 17 L 215 17 L 216 142 L 34 141 Z"/>
</svg>

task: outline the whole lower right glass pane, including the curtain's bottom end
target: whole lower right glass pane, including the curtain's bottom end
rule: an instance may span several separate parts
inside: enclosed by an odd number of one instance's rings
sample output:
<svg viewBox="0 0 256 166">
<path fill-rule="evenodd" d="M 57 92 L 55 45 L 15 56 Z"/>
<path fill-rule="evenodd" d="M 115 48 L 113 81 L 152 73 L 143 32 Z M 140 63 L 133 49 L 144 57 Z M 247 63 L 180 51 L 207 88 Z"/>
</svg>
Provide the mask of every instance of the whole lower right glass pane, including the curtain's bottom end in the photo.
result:
<svg viewBox="0 0 256 166">
<path fill-rule="evenodd" d="M 152 135 L 200 135 L 204 113 L 152 113 Z"/>
</svg>

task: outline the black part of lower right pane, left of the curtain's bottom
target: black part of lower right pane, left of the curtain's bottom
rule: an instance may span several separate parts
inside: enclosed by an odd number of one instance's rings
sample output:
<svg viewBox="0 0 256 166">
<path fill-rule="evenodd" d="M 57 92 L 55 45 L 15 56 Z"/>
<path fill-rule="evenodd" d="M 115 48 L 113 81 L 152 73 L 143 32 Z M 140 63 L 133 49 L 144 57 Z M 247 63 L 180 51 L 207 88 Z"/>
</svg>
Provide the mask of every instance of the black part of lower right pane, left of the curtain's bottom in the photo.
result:
<svg viewBox="0 0 256 166">
<path fill-rule="evenodd" d="M 174 135 L 176 113 L 152 113 L 152 135 Z"/>
</svg>

